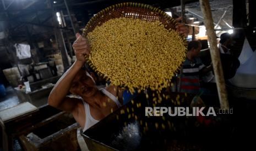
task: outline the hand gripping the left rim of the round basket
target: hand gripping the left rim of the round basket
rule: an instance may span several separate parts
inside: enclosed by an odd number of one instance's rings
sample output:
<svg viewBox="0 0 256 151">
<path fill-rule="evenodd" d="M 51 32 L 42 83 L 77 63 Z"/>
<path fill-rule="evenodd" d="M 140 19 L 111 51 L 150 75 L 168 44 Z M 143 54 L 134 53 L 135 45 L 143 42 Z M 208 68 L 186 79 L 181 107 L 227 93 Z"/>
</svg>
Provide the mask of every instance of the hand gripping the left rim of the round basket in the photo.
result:
<svg viewBox="0 0 256 151">
<path fill-rule="evenodd" d="M 73 46 L 75 57 L 77 57 L 77 61 L 81 63 L 85 63 L 85 55 L 90 54 L 90 45 L 86 38 L 81 36 L 79 33 L 75 35 L 77 40 L 75 40 Z"/>
</svg>

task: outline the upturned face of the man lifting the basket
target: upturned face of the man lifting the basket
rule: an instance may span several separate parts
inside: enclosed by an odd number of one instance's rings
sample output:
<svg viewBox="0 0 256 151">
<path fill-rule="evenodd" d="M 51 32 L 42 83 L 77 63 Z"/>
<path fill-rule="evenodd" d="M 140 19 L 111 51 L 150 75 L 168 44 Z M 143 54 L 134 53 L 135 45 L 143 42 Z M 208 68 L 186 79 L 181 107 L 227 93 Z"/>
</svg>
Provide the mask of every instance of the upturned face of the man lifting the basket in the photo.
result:
<svg viewBox="0 0 256 151">
<path fill-rule="evenodd" d="M 80 70 L 72 82 L 70 92 L 81 97 L 91 97 L 97 92 L 94 81 L 86 75 L 85 71 Z"/>
</svg>

